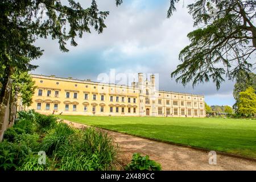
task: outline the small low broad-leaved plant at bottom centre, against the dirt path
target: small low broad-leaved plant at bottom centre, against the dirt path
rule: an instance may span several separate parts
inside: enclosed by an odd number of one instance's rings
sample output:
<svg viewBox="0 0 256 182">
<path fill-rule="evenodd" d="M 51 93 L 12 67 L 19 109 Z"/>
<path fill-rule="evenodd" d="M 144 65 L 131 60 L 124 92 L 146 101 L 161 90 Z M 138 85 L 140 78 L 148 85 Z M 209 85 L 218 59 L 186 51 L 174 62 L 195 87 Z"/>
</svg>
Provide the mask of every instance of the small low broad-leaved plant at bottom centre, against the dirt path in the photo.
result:
<svg viewBox="0 0 256 182">
<path fill-rule="evenodd" d="M 131 163 L 127 164 L 125 169 L 127 171 L 160 171 L 161 165 L 150 160 L 148 155 L 141 156 L 139 153 L 134 153 Z"/>
</svg>

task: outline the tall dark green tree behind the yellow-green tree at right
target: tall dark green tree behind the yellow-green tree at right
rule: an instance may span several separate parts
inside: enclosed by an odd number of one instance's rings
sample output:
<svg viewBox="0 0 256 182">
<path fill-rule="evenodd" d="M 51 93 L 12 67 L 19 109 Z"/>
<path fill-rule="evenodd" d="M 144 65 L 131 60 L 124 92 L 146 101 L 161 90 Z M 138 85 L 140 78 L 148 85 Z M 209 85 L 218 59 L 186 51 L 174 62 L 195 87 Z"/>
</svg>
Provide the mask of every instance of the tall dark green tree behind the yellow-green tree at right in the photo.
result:
<svg viewBox="0 0 256 182">
<path fill-rule="evenodd" d="M 233 108 L 237 112 L 237 104 L 240 101 L 240 92 L 245 91 L 247 88 L 252 86 L 256 93 L 256 74 L 240 72 L 236 78 L 236 84 L 234 85 L 233 96 L 236 100 L 236 103 L 233 105 Z"/>
</svg>

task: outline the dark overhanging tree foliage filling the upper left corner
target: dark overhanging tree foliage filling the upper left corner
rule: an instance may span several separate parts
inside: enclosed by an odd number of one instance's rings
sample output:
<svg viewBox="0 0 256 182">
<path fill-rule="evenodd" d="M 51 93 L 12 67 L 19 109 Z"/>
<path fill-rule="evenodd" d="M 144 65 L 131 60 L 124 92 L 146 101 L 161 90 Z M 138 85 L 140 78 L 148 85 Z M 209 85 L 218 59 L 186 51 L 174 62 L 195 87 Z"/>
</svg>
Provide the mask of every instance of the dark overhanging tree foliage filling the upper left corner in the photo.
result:
<svg viewBox="0 0 256 182">
<path fill-rule="evenodd" d="M 121 2 L 116 0 L 117 5 Z M 67 42 L 77 46 L 75 38 L 84 32 L 93 29 L 100 34 L 108 15 L 109 11 L 98 10 L 95 0 L 86 9 L 74 0 L 0 1 L 0 103 L 14 69 L 24 72 L 37 68 L 30 64 L 43 54 L 34 44 L 36 39 L 56 39 L 60 50 L 68 52 Z"/>
</svg>

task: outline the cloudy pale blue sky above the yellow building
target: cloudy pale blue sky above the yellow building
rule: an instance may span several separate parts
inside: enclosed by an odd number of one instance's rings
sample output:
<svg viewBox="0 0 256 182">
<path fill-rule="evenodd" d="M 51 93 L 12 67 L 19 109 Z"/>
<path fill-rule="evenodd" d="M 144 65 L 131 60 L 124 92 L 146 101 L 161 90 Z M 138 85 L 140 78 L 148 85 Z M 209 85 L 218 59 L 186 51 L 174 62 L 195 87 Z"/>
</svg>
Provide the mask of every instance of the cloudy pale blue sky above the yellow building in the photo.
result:
<svg viewBox="0 0 256 182">
<path fill-rule="evenodd" d="M 89 4 L 80 1 L 84 7 Z M 89 2 L 89 1 L 86 1 Z M 84 3 L 84 4 L 83 4 Z M 172 18 L 167 19 L 168 0 L 98 0 L 98 9 L 110 11 L 103 34 L 84 34 L 77 39 L 79 46 L 59 51 L 56 41 L 38 40 L 36 46 L 44 55 L 33 64 L 39 68 L 32 73 L 73 77 L 98 81 L 100 73 L 158 73 L 159 89 L 181 93 L 203 94 L 209 105 L 233 105 L 232 81 L 226 81 L 216 90 L 213 83 L 182 86 L 170 74 L 179 64 L 180 50 L 189 44 L 187 34 L 194 30 L 185 1 L 177 5 Z"/>
</svg>

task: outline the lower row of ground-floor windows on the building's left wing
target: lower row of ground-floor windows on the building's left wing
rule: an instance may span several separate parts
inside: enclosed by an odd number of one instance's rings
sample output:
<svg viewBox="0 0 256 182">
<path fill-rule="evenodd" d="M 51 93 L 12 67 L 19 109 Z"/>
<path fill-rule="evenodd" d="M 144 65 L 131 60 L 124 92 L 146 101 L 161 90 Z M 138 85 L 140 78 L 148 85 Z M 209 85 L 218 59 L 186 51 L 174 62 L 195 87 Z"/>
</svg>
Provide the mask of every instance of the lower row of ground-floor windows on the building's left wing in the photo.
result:
<svg viewBox="0 0 256 182">
<path fill-rule="evenodd" d="M 109 112 L 113 113 L 113 108 L 114 107 L 109 107 Z M 36 105 L 36 109 L 41 110 L 42 109 L 42 103 L 38 102 Z M 53 105 L 54 110 L 58 110 L 58 104 Z M 50 110 L 50 104 L 46 103 L 46 110 Z M 77 105 L 73 105 L 72 111 L 77 110 Z M 65 105 L 65 111 L 69 111 L 69 104 Z M 84 106 L 84 111 L 88 111 L 88 106 Z M 100 106 L 100 111 L 101 113 L 104 112 L 104 106 Z M 96 112 L 96 106 L 92 106 L 92 112 Z M 121 112 L 125 113 L 125 107 L 121 107 Z M 115 107 L 115 113 L 119 113 L 119 107 Z M 131 107 L 128 107 L 128 113 L 131 113 Z M 133 113 L 136 113 L 136 108 L 133 108 Z"/>
</svg>

